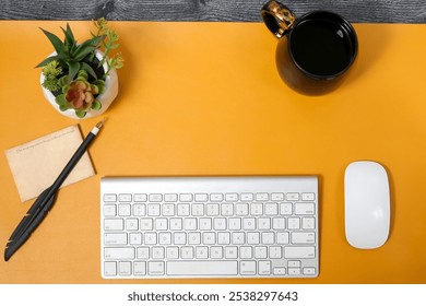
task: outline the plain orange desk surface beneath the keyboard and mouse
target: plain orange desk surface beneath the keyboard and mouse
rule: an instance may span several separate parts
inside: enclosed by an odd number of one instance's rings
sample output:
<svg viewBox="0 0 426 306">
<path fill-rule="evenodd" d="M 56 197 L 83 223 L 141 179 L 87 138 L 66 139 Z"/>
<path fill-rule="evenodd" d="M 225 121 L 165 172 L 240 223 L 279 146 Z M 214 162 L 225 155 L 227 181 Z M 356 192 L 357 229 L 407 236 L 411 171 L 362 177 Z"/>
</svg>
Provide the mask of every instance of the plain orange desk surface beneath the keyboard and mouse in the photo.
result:
<svg viewBox="0 0 426 306">
<path fill-rule="evenodd" d="M 75 125 L 44 98 L 34 67 L 51 52 L 39 26 L 0 22 L 0 149 Z M 97 175 L 63 188 L 0 283 L 194 283 L 106 281 L 99 263 L 103 176 L 318 175 L 320 275 L 308 280 L 201 280 L 202 283 L 426 283 L 426 26 L 355 24 L 359 55 L 335 92 L 308 97 L 282 83 L 276 40 L 261 23 L 119 22 L 126 67 L 119 96 L 90 149 Z M 80 39 L 91 22 L 71 22 Z M 99 118 L 79 121 L 86 134 Z M 386 166 L 391 232 L 374 250 L 344 235 L 348 163 Z M 0 245 L 33 201 L 20 202 L 0 156 Z M 2 255 L 1 255 L 2 257 Z"/>
</svg>

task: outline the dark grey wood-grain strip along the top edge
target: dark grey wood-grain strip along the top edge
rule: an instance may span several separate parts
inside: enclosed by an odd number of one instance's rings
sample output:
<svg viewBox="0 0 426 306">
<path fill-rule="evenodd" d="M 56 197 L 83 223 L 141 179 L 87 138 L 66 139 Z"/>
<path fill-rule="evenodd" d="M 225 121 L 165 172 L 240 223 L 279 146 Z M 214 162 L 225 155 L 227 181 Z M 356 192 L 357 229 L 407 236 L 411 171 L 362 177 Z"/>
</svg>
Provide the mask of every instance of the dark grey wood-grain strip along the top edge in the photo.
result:
<svg viewBox="0 0 426 306">
<path fill-rule="evenodd" d="M 260 22 L 267 0 L 0 0 L 0 20 Z M 358 23 L 426 23 L 425 0 L 286 0 L 296 15 L 324 9 Z"/>
</svg>

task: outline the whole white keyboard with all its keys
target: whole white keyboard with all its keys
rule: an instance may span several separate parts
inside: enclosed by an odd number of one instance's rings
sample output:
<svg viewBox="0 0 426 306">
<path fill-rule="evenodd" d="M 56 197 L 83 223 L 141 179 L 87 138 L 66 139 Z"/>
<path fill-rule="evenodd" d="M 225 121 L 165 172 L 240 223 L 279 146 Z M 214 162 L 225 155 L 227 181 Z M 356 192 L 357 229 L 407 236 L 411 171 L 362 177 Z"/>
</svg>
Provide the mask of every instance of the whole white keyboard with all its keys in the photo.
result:
<svg viewBox="0 0 426 306">
<path fill-rule="evenodd" d="M 106 279 L 316 278 L 315 176 L 100 180 Z"/>
</svg>

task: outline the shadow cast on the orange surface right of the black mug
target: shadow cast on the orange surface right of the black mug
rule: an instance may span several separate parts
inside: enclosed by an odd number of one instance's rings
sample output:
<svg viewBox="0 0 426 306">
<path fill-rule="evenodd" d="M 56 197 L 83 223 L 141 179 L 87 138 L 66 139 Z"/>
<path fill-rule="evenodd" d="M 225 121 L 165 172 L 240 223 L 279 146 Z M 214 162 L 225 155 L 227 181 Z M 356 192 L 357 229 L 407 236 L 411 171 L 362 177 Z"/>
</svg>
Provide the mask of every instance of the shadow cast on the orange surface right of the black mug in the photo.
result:
<svg viewBox="0 0 426 306">
<path fill-rule="evenodd" d="M 356 81 L 374 69 L 390 39 L 389 28 L 386 26 L 354 24 L 354 27 L 358 38 L 358 55 L 346 83 Z"/>
</svg>

